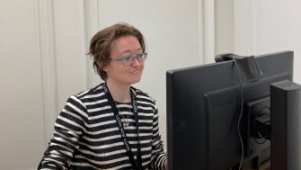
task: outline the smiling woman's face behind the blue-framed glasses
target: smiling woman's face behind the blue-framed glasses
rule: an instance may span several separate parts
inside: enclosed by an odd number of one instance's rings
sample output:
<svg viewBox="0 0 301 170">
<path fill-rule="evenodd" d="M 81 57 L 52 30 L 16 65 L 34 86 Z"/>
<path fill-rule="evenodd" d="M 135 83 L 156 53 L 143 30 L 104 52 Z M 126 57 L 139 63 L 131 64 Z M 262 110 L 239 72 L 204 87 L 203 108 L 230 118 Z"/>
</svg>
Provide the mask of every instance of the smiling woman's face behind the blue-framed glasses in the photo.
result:
<svg viewBox="0 0 301 170">
<path fill-rule="evenodd" d="M 111 45 L 112 59 L 136 57 L 142 53 L 139 41 L 131 35 L 122 36 Z M 110 64 L 103 68 L 108 75 L 107 81 L 119 85 L 136 84 L 141 79 L 143 69 L 144 62 L 138 62 L 137 58 L 129 66 L 124 66 L 120 60 L 111 60 Z"/>
</svg>

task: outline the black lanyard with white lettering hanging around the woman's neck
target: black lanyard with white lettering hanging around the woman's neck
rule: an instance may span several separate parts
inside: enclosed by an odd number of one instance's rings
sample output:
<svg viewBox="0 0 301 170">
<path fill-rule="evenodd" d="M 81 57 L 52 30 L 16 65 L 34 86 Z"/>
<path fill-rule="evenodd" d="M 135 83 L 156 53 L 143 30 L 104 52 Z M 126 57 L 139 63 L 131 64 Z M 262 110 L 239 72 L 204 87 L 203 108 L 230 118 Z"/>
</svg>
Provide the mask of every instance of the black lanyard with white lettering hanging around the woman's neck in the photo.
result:
<svg viewBox="0 0 301 170">
<path fill-rule="evenodd" d="M 114 102 L 114 100 L 113 100 L 113 98 L 111 96 L 109 88 L 107 87 L 106 83 L 104 83 L 102 85 L 102 87 L 104 89 L 104 94 L 107 96 L 108 102 L 111 105 L 111 109 L 114 112 L 114 117 L 115 117 L 115 119 L 117 121 L 117 125 L 118 125 L 118 127 L 120 129 L 120 135 L 121 135 L 121 138 L 123 139 L 124 146 L 125 146 L 125 148 L 127 150 L 130 164 L 134 167 L 135 170 L 136 169 L 137 170 L 142 169 L 141 148 L 140 148 L 139 128 L 138 128 L 137 100 L 136 100 L 135 94 L 132 92 L 132 90 L 129 89 L 130 94 L 131 94 L 130 96 L 131 96 L 131 100 L 132 100 L 132 106 L 133 106 L 133 112 L 134 112 L 134 116 L 135 116 L 136 127 L 137 127 L 137 142 L 138 142 L 138 147 L 137 147 L 137 164 L 135 163 L 136 161 L 135 161 L 132 149 L 129 146 L 127 134 L 126 134 L 126 132 L 124 130 L 123 123 L 121 121 L 119 111 L 118 111 L 117 106 L 116 106 L 116 104 L 115 104 L 115 102 Z"/>
</svg>

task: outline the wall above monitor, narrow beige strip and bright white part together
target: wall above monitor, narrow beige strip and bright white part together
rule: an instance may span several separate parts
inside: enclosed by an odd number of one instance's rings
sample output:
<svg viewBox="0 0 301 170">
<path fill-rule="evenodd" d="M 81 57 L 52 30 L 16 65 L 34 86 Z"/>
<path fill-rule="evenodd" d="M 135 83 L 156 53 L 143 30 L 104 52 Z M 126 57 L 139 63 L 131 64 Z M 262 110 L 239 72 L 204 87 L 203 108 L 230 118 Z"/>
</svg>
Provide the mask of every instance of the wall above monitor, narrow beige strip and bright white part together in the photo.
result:
<svg viewBox="0 0 301 170">
<path fill-rule="evenodd" d="M 301 2 L 215 0 L 215 52 L 261 55 L 295 52 L 294 81 L 301 84 Z"/>
</svg>

